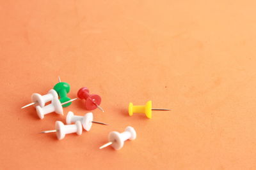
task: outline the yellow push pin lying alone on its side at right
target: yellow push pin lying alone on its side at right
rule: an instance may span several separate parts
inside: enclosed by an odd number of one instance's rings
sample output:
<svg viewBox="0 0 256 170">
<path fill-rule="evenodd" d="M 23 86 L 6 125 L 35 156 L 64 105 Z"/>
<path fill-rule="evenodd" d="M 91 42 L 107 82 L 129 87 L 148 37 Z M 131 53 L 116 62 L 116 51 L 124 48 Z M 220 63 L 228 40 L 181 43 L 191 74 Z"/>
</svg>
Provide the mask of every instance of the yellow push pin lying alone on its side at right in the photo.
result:
<svg viewBox="0 0 256 170">
<path fill-rule="evenodd" d="M 169 110 L 169 109 L 156 109 L 152 108 L 152 101 L 148 101 L 145 106 L 133 106 L 129 103 L 129 115 L 132 116 L 133 113 L 145 113 L 147 118 L 152 118 L 152 110 Z"/>
</svg>

